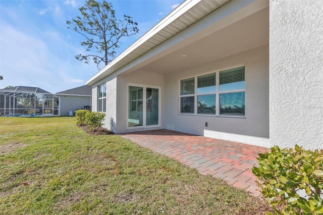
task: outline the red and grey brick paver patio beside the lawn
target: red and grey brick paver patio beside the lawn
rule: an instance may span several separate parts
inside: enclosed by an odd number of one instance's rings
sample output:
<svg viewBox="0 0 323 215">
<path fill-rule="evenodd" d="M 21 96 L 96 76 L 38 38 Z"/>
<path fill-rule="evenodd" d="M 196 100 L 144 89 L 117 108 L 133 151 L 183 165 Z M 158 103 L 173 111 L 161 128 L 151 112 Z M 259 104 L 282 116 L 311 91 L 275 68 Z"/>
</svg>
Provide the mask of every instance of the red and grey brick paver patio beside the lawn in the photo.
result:
<svg viewBox="0 0 323 215">
<path fill-rule="evenodd" d="M 267 148 L 227 140 L 196 136 L 171 130 L 121 134 L 141 146 L 173 157 L 201 174 L 224 179 L 229 185 L 259 196 L 251 168 L 258 153 Z"/>
</svg>

